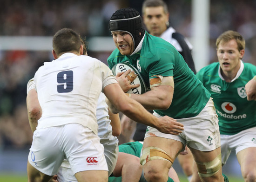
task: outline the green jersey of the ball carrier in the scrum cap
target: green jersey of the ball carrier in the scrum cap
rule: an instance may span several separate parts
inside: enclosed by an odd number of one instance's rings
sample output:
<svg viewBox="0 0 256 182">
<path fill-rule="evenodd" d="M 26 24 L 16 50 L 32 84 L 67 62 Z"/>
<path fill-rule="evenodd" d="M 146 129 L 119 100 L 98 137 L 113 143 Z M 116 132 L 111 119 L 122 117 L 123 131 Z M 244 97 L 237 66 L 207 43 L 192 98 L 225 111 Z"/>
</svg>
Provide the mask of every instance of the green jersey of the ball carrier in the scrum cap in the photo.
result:
<svg viewBox="0 0 256 182">
<path fill-rule="evenodd" d="M 145 33 L 141 50 L 132 56 L 121 55 L 116 48 L 108 58 L 110 69 L 117 63 L 129 63 L 141 73 L 146 86 L 154 75 L 174 77 L 174 95 L 167 110 L 155 110 L 161 116 L 173 118 L 195 117 L 210 98 L 202 83 L 196 78 L 182 55 L 167 41 Z"/>
</svg>

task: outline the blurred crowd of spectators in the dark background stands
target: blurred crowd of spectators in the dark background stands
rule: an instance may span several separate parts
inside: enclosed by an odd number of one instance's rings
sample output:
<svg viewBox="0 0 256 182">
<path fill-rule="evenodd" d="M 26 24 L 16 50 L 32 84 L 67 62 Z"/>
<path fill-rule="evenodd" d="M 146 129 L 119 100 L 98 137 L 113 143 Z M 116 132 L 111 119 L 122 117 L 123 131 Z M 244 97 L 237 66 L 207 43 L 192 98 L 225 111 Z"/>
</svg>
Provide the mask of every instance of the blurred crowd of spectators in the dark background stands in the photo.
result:
<svg viewBox="0 0 256 182">
<path fill-rule="evenodd" d="M 165 0 L 170 25 L 191 37 L 192 0 Z M 110 37 L 108 21 L 121 7 L 133 7 L 141 13 L 143 0 L 1 0 L 0 36 L 53 36 L 63 27 L 72 28 L 82 37 Z M 246 40 L 244 62 L 256 65 L 256 0 L 210 1 L 209 63 L 216 62 L 216 38 L 234 30 Z M 90 52 L 107 61 L 111 52 Z M 3 51 L 0 48 L 0 149 L 31 145 L 32 132 L 27 119 L 27 81 L 45 61 L 47 51 Z M 196 62 L 196 60 L 194 60 Z M 198 70 L 197 70 L 198 71 Z"/>
</svg>

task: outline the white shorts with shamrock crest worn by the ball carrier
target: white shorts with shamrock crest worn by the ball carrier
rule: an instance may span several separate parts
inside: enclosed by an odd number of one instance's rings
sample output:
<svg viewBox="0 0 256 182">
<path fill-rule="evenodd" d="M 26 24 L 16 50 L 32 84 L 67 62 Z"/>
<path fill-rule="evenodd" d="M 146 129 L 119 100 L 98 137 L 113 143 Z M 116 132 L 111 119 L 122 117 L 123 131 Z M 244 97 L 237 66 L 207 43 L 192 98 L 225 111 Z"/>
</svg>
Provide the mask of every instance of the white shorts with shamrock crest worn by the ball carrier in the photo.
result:
<svg viewBox="0 0 256 182">
<path fill-rule="evenodd" d="M 153 113 L 156 117 L 162 117 Z M 179 135 L 165 134 L 153 127 L 146 130 L 145 138 L 159 136 L 173 139 L 187 144 L 189 147 L 200 151 L 211 151 L 221 146 L 218 116 L 212 98 L 209 99 L 203 110 L 196 117 L 177 119 L 184 125 L 184 130 Z M 150 135 L 152 133 L 153 135 Z"/>
</svg>

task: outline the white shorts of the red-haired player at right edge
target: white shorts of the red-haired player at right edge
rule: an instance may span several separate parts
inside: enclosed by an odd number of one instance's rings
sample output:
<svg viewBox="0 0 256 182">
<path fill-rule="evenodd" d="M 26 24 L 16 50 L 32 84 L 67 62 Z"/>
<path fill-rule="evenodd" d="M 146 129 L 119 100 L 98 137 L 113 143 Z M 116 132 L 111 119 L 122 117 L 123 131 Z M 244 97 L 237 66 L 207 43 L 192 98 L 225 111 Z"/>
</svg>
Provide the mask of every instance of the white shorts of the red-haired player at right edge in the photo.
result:
<svg viewBox="0 0 256 182">
<path fill-rule="evenodd" d="M 256 127 L 243 130 L 235 135 L 221 135 L 222 164 L 229 158 L 231 150 L 236 154 L 249 147 L 256 147 Z"/>
</svg>

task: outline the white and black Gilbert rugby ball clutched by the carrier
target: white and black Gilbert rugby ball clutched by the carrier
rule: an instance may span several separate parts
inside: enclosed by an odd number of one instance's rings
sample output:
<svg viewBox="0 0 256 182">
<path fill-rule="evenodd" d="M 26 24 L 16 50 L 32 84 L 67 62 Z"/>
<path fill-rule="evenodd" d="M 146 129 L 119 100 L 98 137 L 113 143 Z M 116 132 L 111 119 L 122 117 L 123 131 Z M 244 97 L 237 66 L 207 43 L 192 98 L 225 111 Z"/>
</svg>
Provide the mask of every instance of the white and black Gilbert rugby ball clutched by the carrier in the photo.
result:
<svg viewBox="0 0 256 182">
<path fill-rule="evenodd" d="M 131 82 L 131 84 L 140 84 L 140 86 L 137 88 L 134 88 L 134 89 L 130 89 L 126 93 L 134 93 L 134 94 L 145 93 L 146 92 L 146 84 L 145 84 L 144 80 L 142 79 L 140 72 L 133 65 L 130 65 L 128 63 L 117 63 L 116 65 L 113 66 L 111 71 L 114 75 L 116 75 L 116 73 L 125 72 L 127 70 L 134 71 L 135 74 L 137 75 L 137 77 L 135 78 L 135 80 L 133 82 Z"/>
</svg>

